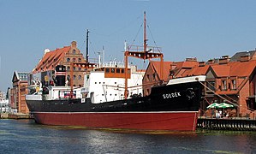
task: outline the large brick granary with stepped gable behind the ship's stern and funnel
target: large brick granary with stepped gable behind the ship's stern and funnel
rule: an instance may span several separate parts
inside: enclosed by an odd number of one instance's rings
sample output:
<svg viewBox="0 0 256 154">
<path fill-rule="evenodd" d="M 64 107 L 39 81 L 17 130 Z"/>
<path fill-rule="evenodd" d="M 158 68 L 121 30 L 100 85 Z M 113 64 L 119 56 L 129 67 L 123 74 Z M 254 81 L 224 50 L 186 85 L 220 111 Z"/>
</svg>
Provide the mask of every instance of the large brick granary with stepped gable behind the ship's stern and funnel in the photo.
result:
<svg viewBox="0 0 256 154">
<path fill-rule="evenodd" d="M 45 55 L 39 61 L 38 65 L 33 69 L 33 74 L 41 81 L 53 80 L 54 70 L 57 65 L 64 65 L 67 70 L 66 80 L 70 79 L 71 62 L 86 62 L 82 53 L 73 41 L 70 46 L 56 50 L 45 50 Z M 85 68 L 73 68 L 73 86 L 83 86 Z M 34 79 L 35 77 L 30 77 Z"/>
</svg>

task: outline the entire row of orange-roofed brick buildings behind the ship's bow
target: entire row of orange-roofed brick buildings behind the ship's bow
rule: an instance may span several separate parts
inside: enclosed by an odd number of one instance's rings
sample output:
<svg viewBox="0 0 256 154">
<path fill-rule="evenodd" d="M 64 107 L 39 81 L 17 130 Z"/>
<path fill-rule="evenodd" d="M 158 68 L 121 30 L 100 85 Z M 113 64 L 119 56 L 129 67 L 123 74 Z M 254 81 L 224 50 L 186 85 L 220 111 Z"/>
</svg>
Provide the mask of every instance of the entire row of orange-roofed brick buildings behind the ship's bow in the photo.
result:
<svg viewBox="0 0 256 154">
<path fill-rule="evenodd" d="M 256 51 L 237 52 L 208 62 L 188 58 L 185 62 L 164 62 L 164 79 L 206 75 L 205 99 L 200 104 L 204 113 L 213 103 L 235 105 L 235 114 L 256 115 Z M 143 78 L 144 94 L 159 83 L 160 62 L 150 62 Z M 152 84 L 150 84 L 152 83 Z M 206 88 L 207 87 L 207 88 Z"/>
</svg>

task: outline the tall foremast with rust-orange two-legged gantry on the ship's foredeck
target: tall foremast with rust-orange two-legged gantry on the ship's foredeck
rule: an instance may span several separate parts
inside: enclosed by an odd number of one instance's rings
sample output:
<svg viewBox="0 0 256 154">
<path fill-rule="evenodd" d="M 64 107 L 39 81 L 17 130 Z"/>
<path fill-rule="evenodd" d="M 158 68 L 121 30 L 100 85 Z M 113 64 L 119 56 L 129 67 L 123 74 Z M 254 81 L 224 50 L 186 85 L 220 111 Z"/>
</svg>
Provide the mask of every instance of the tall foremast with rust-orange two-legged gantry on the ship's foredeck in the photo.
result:
<svg viewBox="0 0 256 154">
<path fill-rule="evenodd" d="M 146 11 L 144 12 L 144 44 L 143 44 L 143 50 L 139 50 L 140 47 L 136 46 L 134 51 L 131 51 L 133 49 L 128 48 L 124 52 L 125 56 L 125 87 L 124 87 L 124 98 L 128 98 L 128 56 L 132 56 L 135 58 L 140 58 L 143 60 L 151 60 L 152 58 L 160 58 L 160 80 L 163 80 L 163 74 L 164 74 L 164 55 L 160 52 L 154 52 L 155 50 L 159 51 L 158 47 L 152 47 L 151 49 L 147 50 L 147 42 L 148 39 L 146 39 Z"/>
</svg>

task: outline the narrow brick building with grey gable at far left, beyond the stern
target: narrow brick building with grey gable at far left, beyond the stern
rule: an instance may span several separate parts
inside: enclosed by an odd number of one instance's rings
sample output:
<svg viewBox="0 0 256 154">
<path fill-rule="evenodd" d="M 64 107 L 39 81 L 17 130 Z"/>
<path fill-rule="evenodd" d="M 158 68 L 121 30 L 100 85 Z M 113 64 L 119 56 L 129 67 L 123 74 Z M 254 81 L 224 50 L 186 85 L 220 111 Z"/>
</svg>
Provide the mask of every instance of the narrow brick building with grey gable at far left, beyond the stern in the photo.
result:
<svg viewBox="0 0 256 154">
<path fill-rule="evenodd" d="M 27 94 L 27 72 L 16 72 L 13 75 L 13 87 L 9 93 L 9 104 L 11 109 L 18 113 L 28 114 L 25 95 Z"/>
</svg>

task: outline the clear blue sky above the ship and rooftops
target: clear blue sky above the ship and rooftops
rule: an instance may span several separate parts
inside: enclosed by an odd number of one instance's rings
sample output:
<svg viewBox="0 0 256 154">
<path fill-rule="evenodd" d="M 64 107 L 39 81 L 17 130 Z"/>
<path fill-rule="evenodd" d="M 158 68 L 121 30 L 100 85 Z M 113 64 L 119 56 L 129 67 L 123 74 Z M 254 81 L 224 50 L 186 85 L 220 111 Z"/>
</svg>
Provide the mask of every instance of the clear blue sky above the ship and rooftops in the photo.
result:
<svg viewBox="0 0 256 154">
<path fill-rule="evenodd" d="M 15 71 L 31 72 L 44 56 L 76 41 L 89 56 L 123 60 L 124 41 L 162 47 L 164 61 L 208 61 L 255 50 L 255 0 L 0 0 L 0 91 Z M 136 63 L 143 65 L 140 62 Z M 145 67 L 145 66 L 143 66 Z"/>
</svg>

